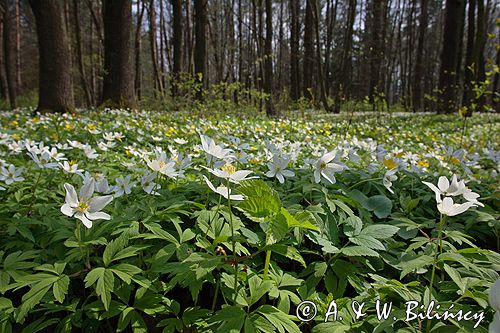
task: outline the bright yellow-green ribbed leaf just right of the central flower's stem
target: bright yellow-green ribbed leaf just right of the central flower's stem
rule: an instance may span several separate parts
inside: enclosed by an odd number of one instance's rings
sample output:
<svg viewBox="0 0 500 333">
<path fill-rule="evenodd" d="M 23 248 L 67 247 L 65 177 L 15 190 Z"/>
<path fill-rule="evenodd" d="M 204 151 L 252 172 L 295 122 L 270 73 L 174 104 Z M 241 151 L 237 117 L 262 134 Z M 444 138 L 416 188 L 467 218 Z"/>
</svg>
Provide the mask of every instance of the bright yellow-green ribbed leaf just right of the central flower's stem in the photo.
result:
<svg viewBox="0 0 500 333">
<path fill-rule="evenodd" d="M 268 218 L 279 213 L 281 200 L 278 192 L 263 180 L 252 179 L 241 182 L 238 191 L 245 200 L 238 204 L 249 218 Z"/>
</svg>

